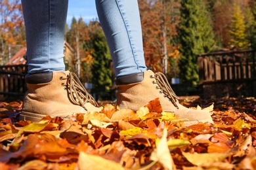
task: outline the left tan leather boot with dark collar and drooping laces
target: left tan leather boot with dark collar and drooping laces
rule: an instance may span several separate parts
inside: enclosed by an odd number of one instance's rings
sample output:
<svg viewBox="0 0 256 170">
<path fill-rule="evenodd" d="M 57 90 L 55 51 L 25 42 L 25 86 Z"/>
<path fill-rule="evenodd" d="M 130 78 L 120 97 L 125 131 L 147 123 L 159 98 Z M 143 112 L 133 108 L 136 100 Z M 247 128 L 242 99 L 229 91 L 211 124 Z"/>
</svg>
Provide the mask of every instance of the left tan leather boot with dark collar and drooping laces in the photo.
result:
<svg viewBox="0 0 256 170">
<path fill-rule="evenodd" d="M 69 118 L 75 113 L 100 111 L 79 78 L 69 71 L 29 75 L 26 82 L 28 92 L 20 120 L 39 122 L 47 115 Z"/>
</svg>

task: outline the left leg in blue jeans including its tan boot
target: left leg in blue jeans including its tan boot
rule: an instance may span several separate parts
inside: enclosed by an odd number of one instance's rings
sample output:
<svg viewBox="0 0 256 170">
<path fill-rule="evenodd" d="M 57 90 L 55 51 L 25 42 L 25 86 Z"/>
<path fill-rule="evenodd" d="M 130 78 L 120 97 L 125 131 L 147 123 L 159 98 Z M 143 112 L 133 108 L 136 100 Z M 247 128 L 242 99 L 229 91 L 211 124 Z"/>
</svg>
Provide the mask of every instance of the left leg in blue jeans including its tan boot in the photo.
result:
<svg viewBox="0 0 256 170">
<path fill-rule="evenodd" d="M 20 120 L 38 122 L 44 116 L 68 118 L 79 112 L 99 111 L 79 78 L 65 71 L 63 45 L 68 0 L 22 0 L 22 10 L 28 92 Z"/>
</svg>

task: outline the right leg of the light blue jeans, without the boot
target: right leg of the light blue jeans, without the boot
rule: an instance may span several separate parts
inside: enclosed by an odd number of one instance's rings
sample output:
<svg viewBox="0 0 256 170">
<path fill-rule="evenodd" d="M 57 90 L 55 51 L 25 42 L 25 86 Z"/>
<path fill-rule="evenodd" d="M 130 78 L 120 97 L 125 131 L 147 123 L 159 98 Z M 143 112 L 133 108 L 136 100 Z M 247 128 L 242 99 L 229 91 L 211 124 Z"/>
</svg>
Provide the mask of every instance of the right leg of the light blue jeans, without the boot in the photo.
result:
<svg viewBox="0 0 256 170">
<path fill-rule="evenodd" d="M 146 71 L 137 0 L 96 0 L 116 77 Z"/>
</svg>

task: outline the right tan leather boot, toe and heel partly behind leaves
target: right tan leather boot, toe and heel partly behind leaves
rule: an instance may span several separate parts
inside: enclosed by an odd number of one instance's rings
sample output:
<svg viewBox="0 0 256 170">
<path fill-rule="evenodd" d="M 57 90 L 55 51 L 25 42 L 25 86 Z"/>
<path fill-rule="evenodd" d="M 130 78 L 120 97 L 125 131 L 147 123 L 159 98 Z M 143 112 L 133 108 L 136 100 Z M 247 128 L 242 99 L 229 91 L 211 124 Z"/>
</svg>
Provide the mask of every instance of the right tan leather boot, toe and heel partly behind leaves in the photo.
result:
<svg viewBox="0 0 256 170">
<path fill-rule="evenodd" d="M 127 82 L 131 82 L 128 84 Z M 188 109 L 182 106 L 175 93 L 171 89 L 167 78 L 162 73 L 145 71 L 134 75 L 121 76 L 116 79 L 117 84 L 117 105 L 121 109 L 139 110 L 148 101 L 160 99 L 161 107 L 165 112 L 188 119 L 184 122 L 186 126 L 198 122 L 211 122 L 211 114 L 205 110 Z"/>
</svg>

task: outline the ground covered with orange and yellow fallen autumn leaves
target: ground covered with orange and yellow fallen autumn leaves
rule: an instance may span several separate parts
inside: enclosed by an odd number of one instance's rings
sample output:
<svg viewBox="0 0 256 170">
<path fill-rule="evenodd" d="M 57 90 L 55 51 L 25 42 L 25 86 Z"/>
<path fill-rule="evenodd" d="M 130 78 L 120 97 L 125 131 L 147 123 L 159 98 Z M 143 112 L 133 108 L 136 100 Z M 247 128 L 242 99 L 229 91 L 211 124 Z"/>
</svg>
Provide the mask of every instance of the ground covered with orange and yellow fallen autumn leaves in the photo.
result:
<svg viewBox="0 0 256 170">
<path fill-rule="evenodd" d="M 188 127 L 158 99 L 38 123 L 18 121 L 21 101 L 0 102 L 0 169 L 256 169 L 256 99 L 181 100 L 212 102 L 215 124 Z"/>
</svg>

